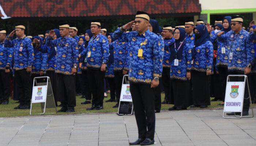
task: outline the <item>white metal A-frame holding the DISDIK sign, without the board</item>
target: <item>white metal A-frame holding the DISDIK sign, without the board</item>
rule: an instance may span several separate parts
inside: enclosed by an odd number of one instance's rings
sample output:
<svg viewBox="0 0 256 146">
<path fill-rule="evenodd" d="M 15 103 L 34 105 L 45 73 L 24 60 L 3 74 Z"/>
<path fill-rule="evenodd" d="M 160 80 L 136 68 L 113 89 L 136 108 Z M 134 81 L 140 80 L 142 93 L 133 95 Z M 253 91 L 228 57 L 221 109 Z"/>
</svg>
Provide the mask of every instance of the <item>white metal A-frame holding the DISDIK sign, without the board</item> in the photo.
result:
<svg viewBox="0 0 256 146">
<path fill-rule="evenodd" d="M 44 78 L 46 79 L 46 82 L 37 82 L 37 79 L 44 79 Z M 56 105 L 55 105 L 55 100 L 54 100 L 54 96 L 53 96 L 53 91 L 52 91 L 52 85 L 51 85 L 51 82 L 50 82 L 50 77 L 45 76 L 45 77 L 35 77 L 34 78 L 33 87 L 42 86 L 42 85 L 46 85 L 47 86 L 47 89 L 46 89 L 46 99 L 45 99 L 45 102 L 39 102 L 40 105 L 41 105 L 42 113 L 34 114 L 34 115 L 44 115 L 46 108 L 55 108 L 55 111 L 56 111 L 56 112 L 46 113 L 46 114 L 56 114 L 57 113 L 57 108 L 56 108 Z M 31 115 L 31 110 L 32 110 L 32 101 L 31 101 L 31 105 L 30 105 L 30 115 Z"/>
</svg>

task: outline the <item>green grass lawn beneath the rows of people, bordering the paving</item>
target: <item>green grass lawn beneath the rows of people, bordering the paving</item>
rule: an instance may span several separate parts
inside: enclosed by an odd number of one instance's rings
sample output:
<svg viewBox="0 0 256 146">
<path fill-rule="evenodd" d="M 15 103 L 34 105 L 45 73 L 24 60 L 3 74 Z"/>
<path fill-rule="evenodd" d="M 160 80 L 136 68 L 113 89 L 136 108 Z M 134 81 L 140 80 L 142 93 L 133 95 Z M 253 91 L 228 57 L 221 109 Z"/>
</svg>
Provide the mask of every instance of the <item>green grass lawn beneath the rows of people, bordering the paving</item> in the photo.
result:
<svg viewBox="0 0 256 146">
<path fill-rule="evenodd" d="M 164 98 L 164 94 L 161 94 L 162 101 Z M 86 111 L 86 108 L 90 107 L 91 104 L 81 104 L 85 99 L 80 99 L 81 96 L 76 96 L 76 107 L 75 112 L 69 113 L 69 114 L 81 114 L 81 113 L 99 113 L 99 112 L 117 112 L 118 108 L 112 108 L 116 103 L 110 102 L 105 103 L 105 100 L 110 99 L 110 94 L 108 94 L 108 98 L 104 99 L 103 103 L 103 110 L 92 110 L 92 111 Z M 212 98 L 211 98 L 212 99 Z M 14 107 L 18 106 L 19 103 L 15 103 L 16 101 L 10 99 L 10 102 L 8 105 L 0 105 L 0 117 L 10 117 L 10 116 L 28 116 L 30 115 L 30 110 L 14 110 Z M 208 106 L 208 108 L 223 108 L 223 106 L 218 106 L 221 101 L 211 101 L 211 105 Z M 58 102 L 58 105 L 60 102 Z M 253 104 L 253 106 L 256 106 L 256 104 Z M 168 110 L 168 108 L 173 107 L 171 104 L 162 104 L 161 110 Z M 61 107 L 57 107 L 57 110 L 60 110 Z M 40 104 L 35 103 L 32 105 L 32 114 L 38 114 L 41 112 Z M 45 110 L 46 113 L 55 112 L 54 109 L 48 109 Z M 53 115 L 63 115 L 67 114 L 64 112 L 53 114 Z M 45 114 L 45 115 L 51 115 L 51 114 Z"/>
</svg>

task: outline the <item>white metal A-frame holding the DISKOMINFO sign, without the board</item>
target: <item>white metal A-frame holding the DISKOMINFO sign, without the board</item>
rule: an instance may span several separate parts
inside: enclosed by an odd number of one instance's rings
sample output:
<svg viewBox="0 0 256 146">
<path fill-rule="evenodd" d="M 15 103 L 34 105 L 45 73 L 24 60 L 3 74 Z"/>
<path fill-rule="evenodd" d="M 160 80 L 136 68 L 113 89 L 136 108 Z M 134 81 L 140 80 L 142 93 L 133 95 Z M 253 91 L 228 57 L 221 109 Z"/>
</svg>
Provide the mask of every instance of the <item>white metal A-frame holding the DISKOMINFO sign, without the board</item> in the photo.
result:
<svg viewBox="0 0 256 146">
<path fill-rule="evenodd" d="M 252 109 L 252 116 L 242 116 L 242 112 L 243 112 L 243 105 L 244 105 L 244 103 L 242 102 L 242 105 L 241 105 L 241 107 L 242 107 L 242 110 L 241 110 L 241 115 L 240 116 L 238 116 L 238 115 L 236 115 L 236 112 L 234 112 L 234 117 L 227 117 L 227 116 L 225 116 L 225 110 L 223 109 L 223 118 L 227 118 L 227 119 L 241 119 L 242 117 L 244 117 L 244 118 L 253 118 L 253 116 L 254 116 L 254 113 L 253 113 L 253 107 L 252 107 L 252 99 L 251 99 L 251 94 L 250 94 L 250 88 L 249 88 L 249 83 L 248 83 L 248 78 L 247 78 L 247 76 L 246 75 L 229 75 L 229 76 L 227 76 L 227 82 L 231 82 L 230 81 L 230 78 L 229 77 L 244 77 L 244 81 L 236 81 L 236 82 L 244 82 L 244 89 L 243 89 L 243 92 L 245 92 L 245 86 L 247 86 L 248 87 L 248 92 L 249 92 L 249 101 L 250 101 L 250 105 L 251 105 L 251 109 Z M 247 82 L 247 83 L 246 83 Z M 226 87 L 226 90 L 227 90 L 227 87 Z M 226 96 L 226 95 L 225 95 Z M 243 100 L 244 100 L 244 97 L 243 97 Z M 226 102 L 225 102 L 226 103 Z M 225 106 L 224 106 L 225 107 Z M 250 109 L 250 107 L 249 107 L 249 109 Z"/>
</svg>

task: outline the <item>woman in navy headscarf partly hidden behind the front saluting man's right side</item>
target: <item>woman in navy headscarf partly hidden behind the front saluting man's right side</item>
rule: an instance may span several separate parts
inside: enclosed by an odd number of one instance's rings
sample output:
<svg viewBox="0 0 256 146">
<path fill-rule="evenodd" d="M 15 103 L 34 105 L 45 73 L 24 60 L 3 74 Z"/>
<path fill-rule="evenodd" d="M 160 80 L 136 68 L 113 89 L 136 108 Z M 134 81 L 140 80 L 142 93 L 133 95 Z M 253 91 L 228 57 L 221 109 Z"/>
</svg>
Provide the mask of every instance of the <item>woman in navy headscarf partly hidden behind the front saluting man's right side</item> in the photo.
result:
<svg viewBox="0 0 256 146">
<path fill-rule="evenodd" d="M 151 32 L 154 32 L 159 37 L 159 41 L 161 44 L 162 51 L 160 52 L 163 58 L 163 51 L 164 51 L 164 41 L 163 37 L 161 36 L 161 30 L 159 30 L 159 25 L 157 20 L 150 19 L 148 24 L 148 29 Z M 161 78 L 159 78 L 159 82 L 161 82 Z M 161 84 L 161 83 L 159 83 Z M 160 112 L 161 110 L 161 85 L 154 88 L 154 94 L 155 94 L 155 112 Z"/>
</svg>

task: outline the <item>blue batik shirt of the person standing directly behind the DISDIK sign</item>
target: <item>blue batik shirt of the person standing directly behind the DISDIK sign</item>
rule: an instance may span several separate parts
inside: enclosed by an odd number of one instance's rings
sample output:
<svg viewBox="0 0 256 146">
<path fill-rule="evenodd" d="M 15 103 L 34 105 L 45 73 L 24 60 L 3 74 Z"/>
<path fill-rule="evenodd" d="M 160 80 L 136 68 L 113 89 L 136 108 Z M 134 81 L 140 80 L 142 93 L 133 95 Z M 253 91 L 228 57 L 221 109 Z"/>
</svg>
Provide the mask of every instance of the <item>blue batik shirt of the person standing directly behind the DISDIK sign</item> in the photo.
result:
<svg viewBox="0 0 256 146">
<path fill-rule="evenodd" d="M 44 73 L 46 73 L 46 64 L 47 64 L 47 53 L 42 53 L 39 50 L 35 50 L 31 73 L 39 74 L 40 71 L 43 71 Z"/>
</svg>

